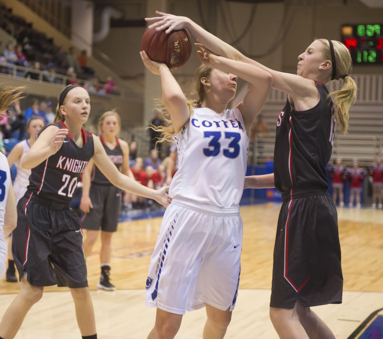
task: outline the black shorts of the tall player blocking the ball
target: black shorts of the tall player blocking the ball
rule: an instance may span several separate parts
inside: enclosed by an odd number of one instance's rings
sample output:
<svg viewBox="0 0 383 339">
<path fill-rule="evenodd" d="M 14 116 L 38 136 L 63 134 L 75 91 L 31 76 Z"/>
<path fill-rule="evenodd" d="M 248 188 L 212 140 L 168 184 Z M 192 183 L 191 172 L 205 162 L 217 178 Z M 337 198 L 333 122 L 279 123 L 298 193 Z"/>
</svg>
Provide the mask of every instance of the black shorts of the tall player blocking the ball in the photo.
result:
<svg viewBox="0 0 383 339">
<path fill-rule="evenodd" d="M 274 247 L 270 307 L 342 303 L 337 211 L 322 189 L 282 193 Z"/>
</svg>

